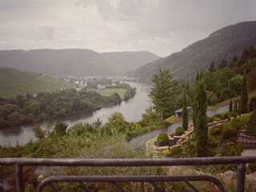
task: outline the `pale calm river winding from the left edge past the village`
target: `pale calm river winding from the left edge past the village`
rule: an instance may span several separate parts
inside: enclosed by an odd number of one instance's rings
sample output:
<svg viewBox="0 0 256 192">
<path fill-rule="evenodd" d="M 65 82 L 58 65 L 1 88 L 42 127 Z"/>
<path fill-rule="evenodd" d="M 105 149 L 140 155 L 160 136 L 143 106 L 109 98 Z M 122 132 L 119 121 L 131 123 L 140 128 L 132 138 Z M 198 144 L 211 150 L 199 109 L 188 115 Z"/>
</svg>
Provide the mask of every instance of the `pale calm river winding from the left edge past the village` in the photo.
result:
<svg viewBox="0 0 256 192">
<path fill-rule="evenodd" d="M 147 96 L 149 86 L 136 82 L 130 82 L 130 86 L 136 87 L 137 90 L 134 98 L 131 98 L 129 101 L 122 102 L 116 106 L 102 108 L 101 110 L 96 110 L 87 114 L 74 115 L 68 118 L 58 118 L 50 122 L 41 122 L 38 123 L 38 125 L 42 128 L 46 128 L 47 124 L 54 125 L 54 122 L 62 121 L 68 123 L 70 127 L 74 126 L 74 124 L 78 122 L 94 122 L 97 118 L 106 122 L 110 114 L 113 114 L 115 111 L 124 114 L 126 120 L 129 122 L 138 121 L 141 119 L 146 108 L 150 106 L 148 102 L 149 98 Z M 17 142 L 19 144 L 24 144 L 30 141 L 30 139 L 34 139 L 34 126 L 34 124 L 31 124 L 27 126 L 1 129 L 0 145 L 15 145 Z"/>
</svg>

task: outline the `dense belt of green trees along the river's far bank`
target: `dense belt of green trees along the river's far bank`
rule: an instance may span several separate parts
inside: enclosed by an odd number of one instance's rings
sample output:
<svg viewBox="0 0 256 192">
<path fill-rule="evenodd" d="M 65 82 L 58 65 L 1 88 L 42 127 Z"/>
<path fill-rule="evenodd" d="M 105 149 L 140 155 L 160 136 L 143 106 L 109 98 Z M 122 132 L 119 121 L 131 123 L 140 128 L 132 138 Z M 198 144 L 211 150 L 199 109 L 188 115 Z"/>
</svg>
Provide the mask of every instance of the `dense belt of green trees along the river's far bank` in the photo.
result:
<svg viewBox="0 0 256 192">
<path fill-rule="evenodd" d="M 126 89 L 124 100 L 134 97 L 135 90 L 126 83 L 118 84 Z M 103 97 L 95 91 L 74 89 L 58 90 L 51 93 L 17 95 L 16 98 L 0 98 L 0 127 L 24 125 L 50 118 L 61 118 L 98 110 L 122 102 L 114 93 Z"/>
</svg>

